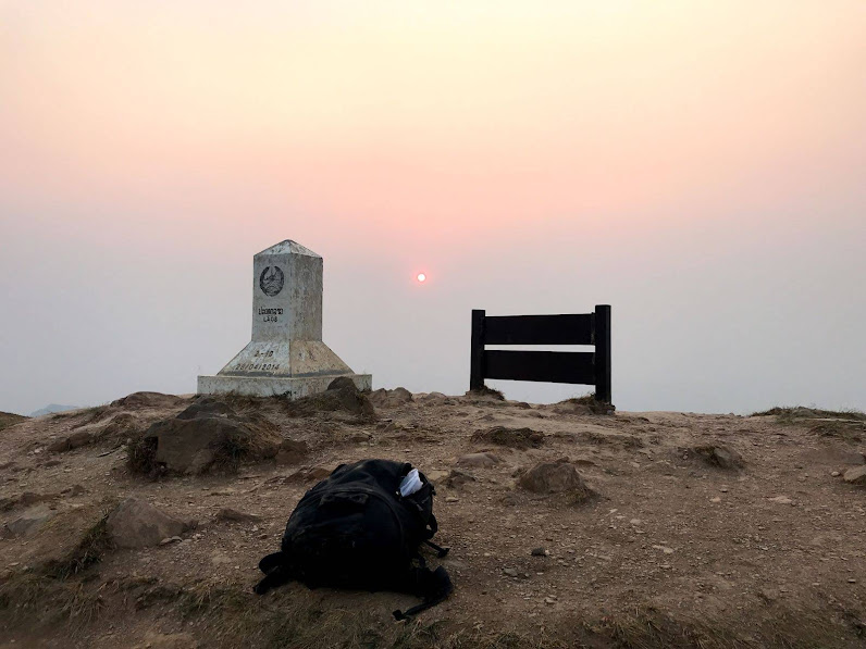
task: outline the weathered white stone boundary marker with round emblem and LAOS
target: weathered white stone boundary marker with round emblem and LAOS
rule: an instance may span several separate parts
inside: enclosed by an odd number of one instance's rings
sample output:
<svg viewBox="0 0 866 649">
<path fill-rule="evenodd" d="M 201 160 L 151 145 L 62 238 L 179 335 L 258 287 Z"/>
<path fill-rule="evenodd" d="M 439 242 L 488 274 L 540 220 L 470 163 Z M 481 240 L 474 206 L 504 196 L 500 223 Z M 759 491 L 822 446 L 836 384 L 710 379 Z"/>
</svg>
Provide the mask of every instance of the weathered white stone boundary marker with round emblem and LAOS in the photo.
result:
<svg viewBox="0 0 866 649">
<path fill-rule="evenodd" d="M 215 376 L 199 376 L 198 394 L 298 399 L 338 376 L 372 387 L 322 342 L 322 258 L 288 239 L 262 250 L 252 258 L 252 340 Z"/>
</svg>

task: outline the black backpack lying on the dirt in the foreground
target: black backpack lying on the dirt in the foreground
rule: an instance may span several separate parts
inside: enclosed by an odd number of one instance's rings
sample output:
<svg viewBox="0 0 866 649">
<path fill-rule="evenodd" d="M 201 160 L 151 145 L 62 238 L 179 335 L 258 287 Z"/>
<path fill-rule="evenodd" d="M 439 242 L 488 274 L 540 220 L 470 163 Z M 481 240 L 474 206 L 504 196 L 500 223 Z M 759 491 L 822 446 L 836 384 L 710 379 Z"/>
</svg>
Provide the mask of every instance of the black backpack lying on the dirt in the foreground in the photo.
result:
<svg viewBox="0 0 866 649">
<path fill-rule="evenodd" d="M 419 553 L 436 534 L 433 485 L 419 472 L 421 488 L 403 497 L 399 485 L 412 465 L 389 460 L 341 464 L 300 499 L 288 519 L 281 551 L 259 562 L 267 575 L 259 595 L 289 581 L 310 588 L 330 586 L 394 590 L 423 598 L 397 620 L 443 601 L 454 589 L 443 566 L 426 567 Z"/>
</svg>

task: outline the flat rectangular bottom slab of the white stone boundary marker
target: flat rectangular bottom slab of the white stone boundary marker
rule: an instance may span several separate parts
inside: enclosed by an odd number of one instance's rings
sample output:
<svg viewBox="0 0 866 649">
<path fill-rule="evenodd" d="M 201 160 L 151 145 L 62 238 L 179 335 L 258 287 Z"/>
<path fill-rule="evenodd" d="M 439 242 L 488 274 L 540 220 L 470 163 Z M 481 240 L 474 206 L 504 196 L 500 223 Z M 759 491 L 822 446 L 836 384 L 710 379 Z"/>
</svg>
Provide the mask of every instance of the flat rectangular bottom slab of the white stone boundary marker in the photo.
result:
<svg viewBox="0 0 866 649">
<path fill-rule="evenodd" d="M 330 374 L 324 376 L 199 376 L 199 395 L 244 395 L 246 397 L 275 397 L 284 395 L 300 399 L 324 392 L 331 382 L 341 376 L 350 378 L 359 390 L 373 388 L 371 374 Z"/>
</svg>

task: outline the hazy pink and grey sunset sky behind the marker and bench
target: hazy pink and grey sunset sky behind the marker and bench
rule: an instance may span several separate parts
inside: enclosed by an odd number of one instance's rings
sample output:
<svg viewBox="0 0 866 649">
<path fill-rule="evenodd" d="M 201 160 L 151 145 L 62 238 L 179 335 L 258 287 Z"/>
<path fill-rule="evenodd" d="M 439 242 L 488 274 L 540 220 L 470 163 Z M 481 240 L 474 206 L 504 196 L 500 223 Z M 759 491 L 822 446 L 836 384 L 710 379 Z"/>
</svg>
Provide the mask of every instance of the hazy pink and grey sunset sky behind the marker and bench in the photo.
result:
<svg viewBox="0 0 866 649">
<path fill-rule="evenodd" d="M 604 303 L 620 410 L 866 409 L 864 34 L 862 0 L 0 0 L 0 411 L 194 391 L 283 239 L 375 388 L 462 394 L 471 309 Z"/>
</svg>

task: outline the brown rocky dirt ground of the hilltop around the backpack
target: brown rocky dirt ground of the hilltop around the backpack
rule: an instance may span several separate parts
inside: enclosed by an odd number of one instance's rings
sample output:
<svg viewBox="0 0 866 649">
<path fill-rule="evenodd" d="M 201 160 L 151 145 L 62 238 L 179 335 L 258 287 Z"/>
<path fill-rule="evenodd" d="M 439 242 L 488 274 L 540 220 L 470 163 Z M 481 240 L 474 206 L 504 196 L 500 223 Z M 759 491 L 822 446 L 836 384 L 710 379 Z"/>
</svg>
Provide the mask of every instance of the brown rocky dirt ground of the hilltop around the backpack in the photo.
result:
<svg viewBox="0 0 866 649">
<path fill-rule="evenodd" d="M 4 420 L 0 647 L 866 644 L 863 415 L 587 403 L 136 394 Z M 454 595 L 409 623 L 405 595 L 253 595 L 302 494 L 371 457 L 435 483 Z"/>
</svg>

